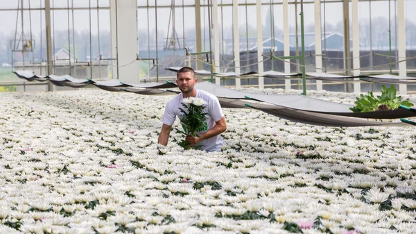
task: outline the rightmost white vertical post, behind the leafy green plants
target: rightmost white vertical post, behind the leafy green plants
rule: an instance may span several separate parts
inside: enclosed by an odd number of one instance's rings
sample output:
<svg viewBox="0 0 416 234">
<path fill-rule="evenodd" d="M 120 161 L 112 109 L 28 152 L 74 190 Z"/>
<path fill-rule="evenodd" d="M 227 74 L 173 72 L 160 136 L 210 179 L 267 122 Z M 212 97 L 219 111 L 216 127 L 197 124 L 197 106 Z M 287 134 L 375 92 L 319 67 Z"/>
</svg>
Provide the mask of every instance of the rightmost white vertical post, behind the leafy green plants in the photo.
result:
<svg viewBox="0 0 416 234">
<path fill-rule="evenodd" d="M 397 0 L 397 40 L 399 41 L 399 58 L 406 58 L 406 30 L 404 20 L 404 0 Z M 406 62 L 399 63 L 399 76 L 406 76 Z M 407 85 L 399 85 L 399 93 L 407 94 Z"/>
</svg>

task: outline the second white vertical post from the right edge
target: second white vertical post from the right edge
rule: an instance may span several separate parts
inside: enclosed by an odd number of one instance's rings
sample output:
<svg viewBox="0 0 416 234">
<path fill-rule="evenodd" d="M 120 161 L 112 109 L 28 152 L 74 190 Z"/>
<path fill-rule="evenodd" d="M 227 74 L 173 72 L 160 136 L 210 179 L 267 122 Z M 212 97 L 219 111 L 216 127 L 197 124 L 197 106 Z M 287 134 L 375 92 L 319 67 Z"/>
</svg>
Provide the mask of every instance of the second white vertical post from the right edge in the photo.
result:
<svg viewBox="0 0 416 234">
<path fill-rule="evenodd" d="M 354 69 L 360 68 L 360 26 L 358 24 L 358 0 L 352 0 L 352 55 Z M 354 70 L 354 76 L 360 75 L 360 70 Z M 361 92 L 359 78 L 354 78 L 354 92 Z"/>
</svg>

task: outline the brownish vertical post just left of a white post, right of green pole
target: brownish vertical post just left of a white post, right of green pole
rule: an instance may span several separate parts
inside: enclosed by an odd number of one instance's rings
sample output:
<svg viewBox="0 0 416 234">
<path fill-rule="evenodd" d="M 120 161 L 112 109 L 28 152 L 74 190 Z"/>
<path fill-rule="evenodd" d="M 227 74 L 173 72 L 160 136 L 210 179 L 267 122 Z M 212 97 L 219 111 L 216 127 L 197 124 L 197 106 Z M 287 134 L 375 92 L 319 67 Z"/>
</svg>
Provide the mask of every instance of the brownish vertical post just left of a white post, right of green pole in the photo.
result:
<svg viewBox="0 0 416 234">
<path fill-rule="evenodd" d="M 343 0 L 343 17 L 344 17 L 344 69 L 345 75 L 351 75 L 351 60 L 349 47 L 349 0 Z M 346 92 L 350 92 L 349 83 L 346 85 Z"/>
</svg>

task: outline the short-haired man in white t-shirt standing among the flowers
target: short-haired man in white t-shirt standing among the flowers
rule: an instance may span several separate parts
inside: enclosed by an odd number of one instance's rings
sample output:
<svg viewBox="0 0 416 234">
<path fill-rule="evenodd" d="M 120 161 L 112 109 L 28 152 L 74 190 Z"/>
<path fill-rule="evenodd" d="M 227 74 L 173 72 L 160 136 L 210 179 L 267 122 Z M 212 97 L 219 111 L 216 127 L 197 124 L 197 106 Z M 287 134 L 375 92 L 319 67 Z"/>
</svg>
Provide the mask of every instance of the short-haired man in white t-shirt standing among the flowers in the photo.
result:
<svg viewBox="0 0 416 234">
<path fill-rule="evenodd" d="M 200 146 L 205 151 L 220 151 L 223 145 L 223 138 L 220 133 L 223 133 L 227 129 L 225 123 L 225 117 L 223 110 L 221 109 L 218 98 L 209 92 L 203 90 L 196 90 L 194 87 L 197 83 L 195 78 L 195 71 L 191 67 L 182 67 L 177 72 L 177 87 L 179 87 L 181 93 L 177 94 L 171 101 L 168 101 L 164 115 L 162 117 L 162 131 L 160 132 L 159 144 L 167 145 L 169 134 L 171 133 L 172 124 L 175 122 L 176 117 L 180 117 L 182 112 L 179 108 L 183 108 L 182 100 L 188 97 L 198 97 L 205 101 L 205 112 L 207 112 L 207 131 L 198 132 L 200 137 L 192 137 L 188 135 L 185 140 L 191 144 L 191 146 Z"/>
</svg>

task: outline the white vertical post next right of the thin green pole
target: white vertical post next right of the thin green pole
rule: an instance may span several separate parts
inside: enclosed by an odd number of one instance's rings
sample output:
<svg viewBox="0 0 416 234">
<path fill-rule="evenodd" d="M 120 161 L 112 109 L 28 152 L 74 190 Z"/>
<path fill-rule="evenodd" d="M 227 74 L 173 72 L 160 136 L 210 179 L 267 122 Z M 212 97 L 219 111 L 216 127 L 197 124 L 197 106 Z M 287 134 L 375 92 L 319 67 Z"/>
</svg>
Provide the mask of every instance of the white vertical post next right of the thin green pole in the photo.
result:
<svg viewBox="0 0 416 234">
<path fill-rule="evenodd" d="M 320 0 L 315 0 L 315 67 L 322 72 L 322 33 L 320 17 Z M 322 91 L 322 81 L 316 81 L 316 91 Z"/>
</svg>

